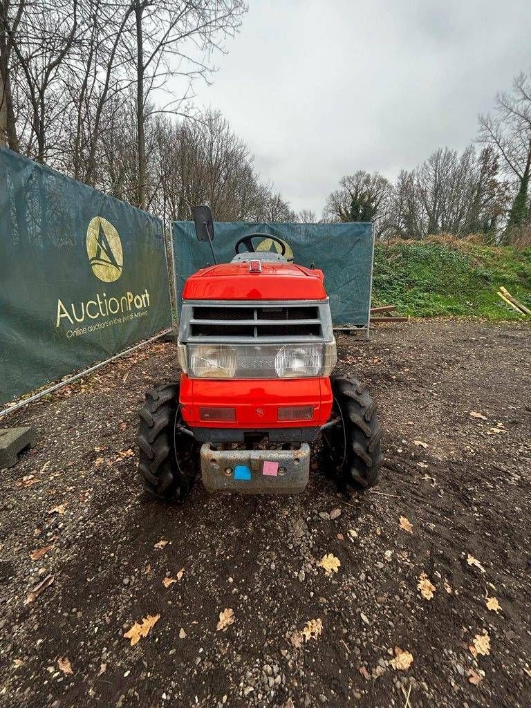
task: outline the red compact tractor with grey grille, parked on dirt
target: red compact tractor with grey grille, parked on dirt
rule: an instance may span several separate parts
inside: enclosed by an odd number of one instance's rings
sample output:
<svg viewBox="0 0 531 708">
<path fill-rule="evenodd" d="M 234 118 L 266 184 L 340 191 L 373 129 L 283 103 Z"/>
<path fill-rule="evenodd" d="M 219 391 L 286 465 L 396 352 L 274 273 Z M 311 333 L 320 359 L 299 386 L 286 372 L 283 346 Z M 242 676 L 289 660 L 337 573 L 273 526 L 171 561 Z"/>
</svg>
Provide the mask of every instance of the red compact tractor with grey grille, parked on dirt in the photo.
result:
<svg viewBox="0 0 531 708">
<path fill-rule="evenodd" d="M 181 382 L 154 387 L 139 412 L 147 491 L 185 498 L 200 459 L 208 491 L 300 492 L 314 441 L 340 489 L 377 484 L 377 405 L 357 378 L 331 377 L 336 341 L 322 270 L 288 262 L 284 241 L 270 234 L 244 236 L 232 261 L 217 264 L 210 208 L 194 217 L 215 265 L 185 283 Z M 278 251 L 257 251 L 256 239 Z"/>
</svg>

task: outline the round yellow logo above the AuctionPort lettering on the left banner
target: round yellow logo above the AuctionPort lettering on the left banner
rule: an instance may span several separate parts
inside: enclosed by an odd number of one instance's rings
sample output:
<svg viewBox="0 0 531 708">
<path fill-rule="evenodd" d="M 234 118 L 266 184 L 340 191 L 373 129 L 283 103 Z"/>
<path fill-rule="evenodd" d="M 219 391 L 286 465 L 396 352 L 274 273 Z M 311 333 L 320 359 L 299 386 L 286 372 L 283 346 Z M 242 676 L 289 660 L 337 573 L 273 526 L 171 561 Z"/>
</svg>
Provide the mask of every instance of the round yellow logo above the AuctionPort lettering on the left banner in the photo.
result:
<svg viewBox="0 0 531 708">
<path fill-rule="evenodd" d="M 94 217 L 86 229 L 86 252 L 96 278 L 103 282 L 118 280 L 123 270 L 122 241 L 113 224 Z"/>
</svg>

